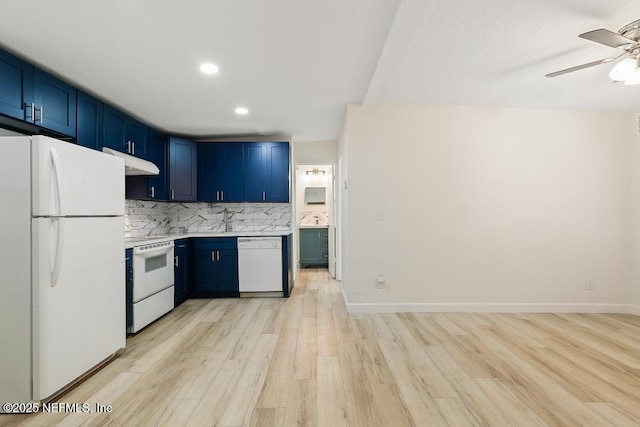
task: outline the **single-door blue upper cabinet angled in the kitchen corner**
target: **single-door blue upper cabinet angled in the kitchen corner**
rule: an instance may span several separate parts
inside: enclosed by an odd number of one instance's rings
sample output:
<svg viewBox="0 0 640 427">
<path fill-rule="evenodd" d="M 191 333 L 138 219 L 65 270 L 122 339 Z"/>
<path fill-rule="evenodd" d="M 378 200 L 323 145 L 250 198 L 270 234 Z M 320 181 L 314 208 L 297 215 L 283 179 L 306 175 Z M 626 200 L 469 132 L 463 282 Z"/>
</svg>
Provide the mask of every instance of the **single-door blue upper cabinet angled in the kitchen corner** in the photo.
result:
<svg viewBox="0 0 640 427">
<path fill-rule="evenodd" d="M 197 143 L 169 138 L 169 200 L 197 199 Z"/>
</svg>

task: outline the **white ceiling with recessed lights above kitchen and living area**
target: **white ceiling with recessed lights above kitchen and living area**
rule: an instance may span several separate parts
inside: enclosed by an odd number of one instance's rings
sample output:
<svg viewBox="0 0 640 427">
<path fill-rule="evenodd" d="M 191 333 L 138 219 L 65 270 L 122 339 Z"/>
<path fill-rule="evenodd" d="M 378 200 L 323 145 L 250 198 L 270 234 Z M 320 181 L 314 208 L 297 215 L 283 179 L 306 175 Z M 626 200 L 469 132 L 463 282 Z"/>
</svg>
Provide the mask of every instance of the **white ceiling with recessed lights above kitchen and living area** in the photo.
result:
<svg viewBox="0 0 640 427">
<path fill-rule="evenodd" d="M 578 34 L 636 19 L 637 0 L 31 0 L 4 2 L 0 44 L 167 132 L 332 140 L 348 103 L 637 110 L 611 64 L 544 77 L 615 56 Z"/>
</svg>

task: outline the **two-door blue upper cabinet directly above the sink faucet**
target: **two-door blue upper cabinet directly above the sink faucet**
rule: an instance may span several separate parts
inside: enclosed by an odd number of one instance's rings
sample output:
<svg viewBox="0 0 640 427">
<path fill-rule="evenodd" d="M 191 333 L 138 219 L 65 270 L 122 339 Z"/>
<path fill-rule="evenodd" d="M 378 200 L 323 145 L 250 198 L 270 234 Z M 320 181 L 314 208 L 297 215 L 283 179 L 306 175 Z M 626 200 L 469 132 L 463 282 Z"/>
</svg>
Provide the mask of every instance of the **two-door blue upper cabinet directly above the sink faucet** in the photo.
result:
<svg viewBox="0 0 640 427">
<path fill-rule="evenodd" d="M 241 143 L 199 143 L 198 200 L 242 202 L 243 157 Z"/>
</svg>

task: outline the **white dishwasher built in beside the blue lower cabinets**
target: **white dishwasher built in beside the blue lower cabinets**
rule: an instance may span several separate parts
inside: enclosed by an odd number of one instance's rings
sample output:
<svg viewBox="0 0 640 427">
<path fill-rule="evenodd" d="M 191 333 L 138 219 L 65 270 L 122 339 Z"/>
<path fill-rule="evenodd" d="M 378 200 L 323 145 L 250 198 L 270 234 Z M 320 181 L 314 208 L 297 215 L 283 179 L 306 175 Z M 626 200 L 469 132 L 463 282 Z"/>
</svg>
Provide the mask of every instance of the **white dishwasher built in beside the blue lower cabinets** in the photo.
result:
<svg viewBox="0 0 640 427">
<path fill-rule="evenodd" d="M 282 292 L 282 238 L 238 237 L 240 292 Z"/>
</svg>

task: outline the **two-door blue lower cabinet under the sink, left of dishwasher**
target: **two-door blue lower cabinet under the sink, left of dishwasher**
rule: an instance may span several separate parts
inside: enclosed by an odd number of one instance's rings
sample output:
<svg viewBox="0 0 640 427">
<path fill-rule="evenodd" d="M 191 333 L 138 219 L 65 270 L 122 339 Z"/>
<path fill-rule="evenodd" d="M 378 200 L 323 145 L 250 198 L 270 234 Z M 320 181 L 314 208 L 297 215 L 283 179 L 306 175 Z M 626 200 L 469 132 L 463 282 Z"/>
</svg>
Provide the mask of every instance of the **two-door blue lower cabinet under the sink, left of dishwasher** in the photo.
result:
<svg viewBox="0 0 640 427">
<path fill-rule="evenodd" d="M 235 237 L 198 238 L 193 241 L 192 297 L 237 297 L 238 241 Z"/>
</svg>

